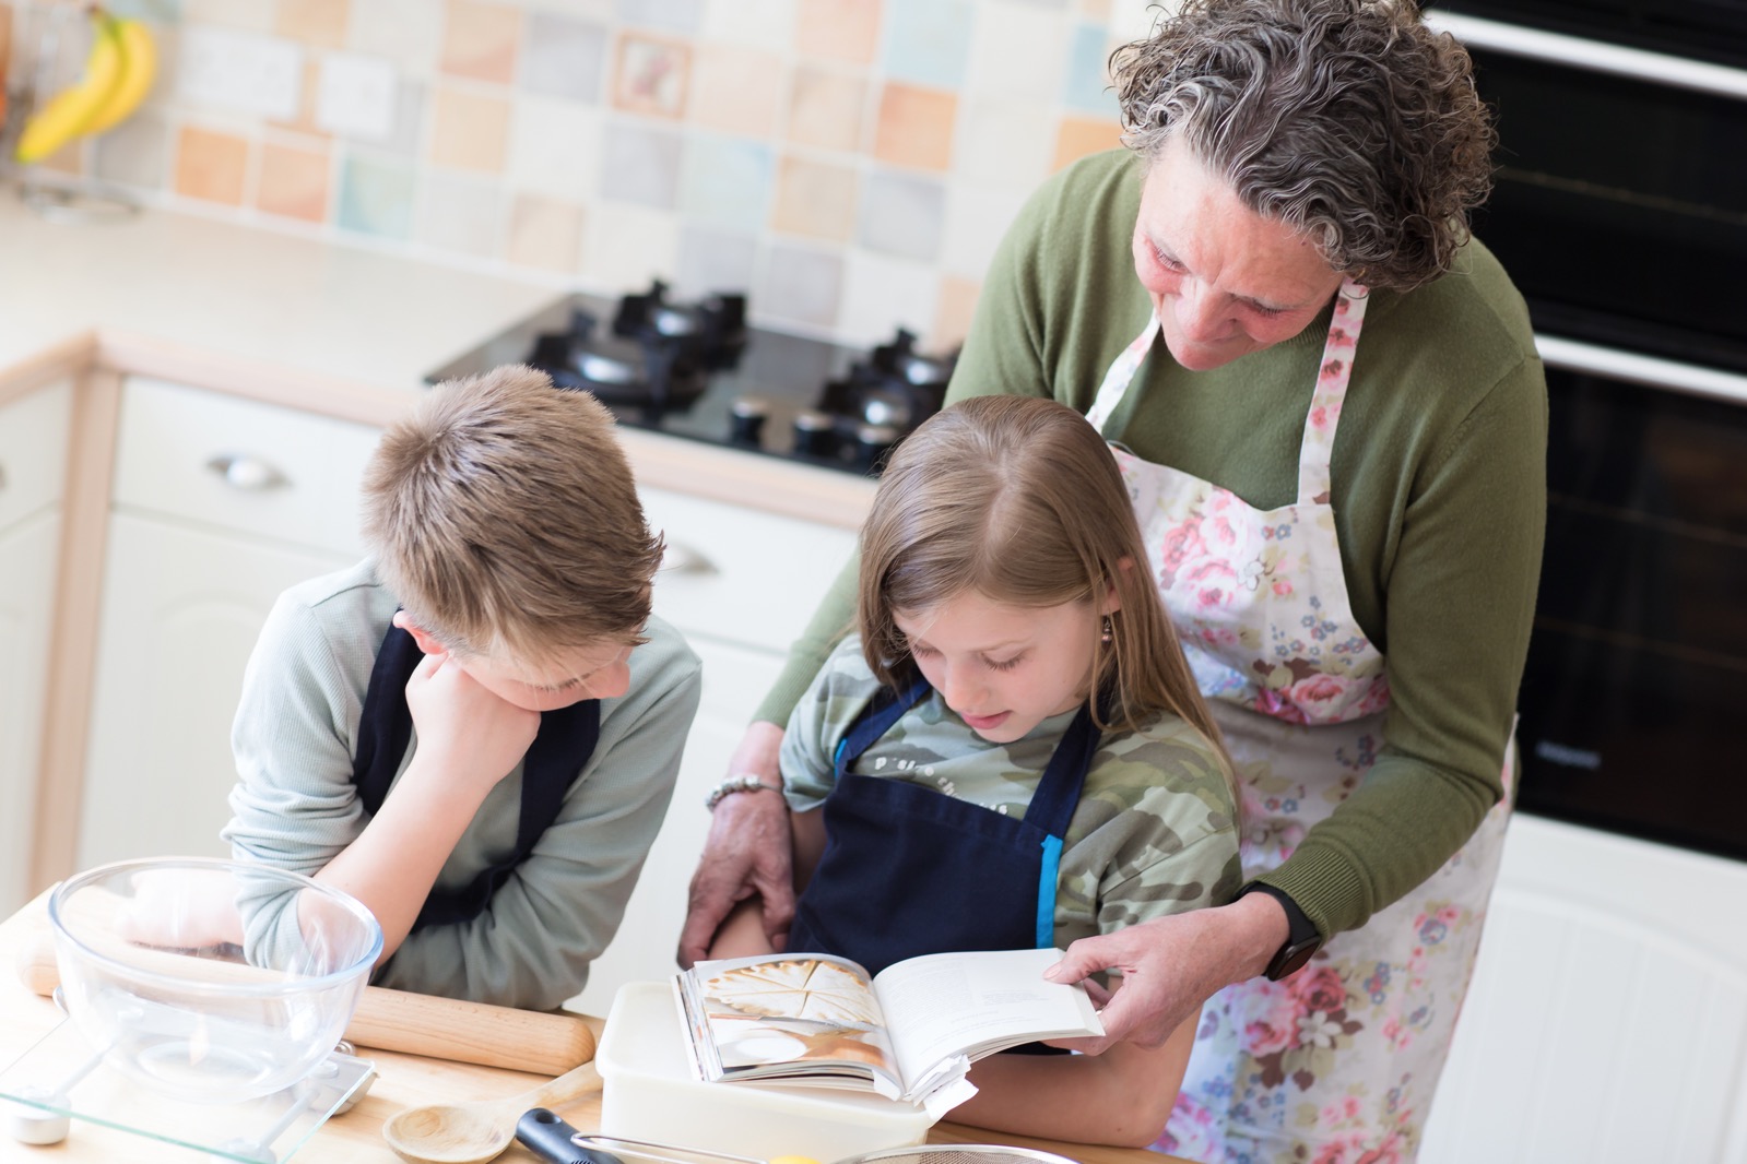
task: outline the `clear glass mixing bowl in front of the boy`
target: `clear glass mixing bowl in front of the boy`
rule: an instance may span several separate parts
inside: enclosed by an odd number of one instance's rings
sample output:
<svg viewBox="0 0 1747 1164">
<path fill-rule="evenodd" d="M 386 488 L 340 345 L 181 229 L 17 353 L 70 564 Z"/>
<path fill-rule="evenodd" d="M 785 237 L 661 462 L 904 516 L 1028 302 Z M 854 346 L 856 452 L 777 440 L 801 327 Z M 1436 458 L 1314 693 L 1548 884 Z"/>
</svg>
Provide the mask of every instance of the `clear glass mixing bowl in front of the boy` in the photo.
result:
<svg viewBox="0 0 1747 1164">
<path fill-rule="evenodd" d="M 234 860 L 100 866 L 49 895 L 66 1012 L 105 1063 L 194 1103 L 309 1075 L 383 953 L 356 899 Z"/>
</svg>

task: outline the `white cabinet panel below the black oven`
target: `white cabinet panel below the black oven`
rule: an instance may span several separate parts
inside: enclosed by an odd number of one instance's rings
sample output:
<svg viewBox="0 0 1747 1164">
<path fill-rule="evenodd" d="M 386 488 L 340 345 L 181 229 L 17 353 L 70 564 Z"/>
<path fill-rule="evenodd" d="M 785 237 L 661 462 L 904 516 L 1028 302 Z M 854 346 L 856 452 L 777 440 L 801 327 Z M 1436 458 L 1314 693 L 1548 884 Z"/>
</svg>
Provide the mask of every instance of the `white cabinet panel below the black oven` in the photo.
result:
<svg viewBox="0 0 1747 1164">
<path fill-rule="evenodd" d="M 1747 1162 L 1747 862 L 1518 815 L 1420 1164 Z"/>
</svg>

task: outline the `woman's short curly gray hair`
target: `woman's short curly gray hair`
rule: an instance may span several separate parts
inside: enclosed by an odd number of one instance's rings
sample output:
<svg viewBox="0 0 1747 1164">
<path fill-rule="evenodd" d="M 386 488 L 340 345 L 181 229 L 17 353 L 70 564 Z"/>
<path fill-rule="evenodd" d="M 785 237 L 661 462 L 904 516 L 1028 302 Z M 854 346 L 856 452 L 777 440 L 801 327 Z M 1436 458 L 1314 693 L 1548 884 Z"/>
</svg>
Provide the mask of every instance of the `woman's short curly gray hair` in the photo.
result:
<svg viewBox="0 0 1747 1164">
<path fill-rule="evenodd" d="M 1412 0 L 1188 0 L 1109 65 L 1122 140 L 1148 166 L 1181 136 L 1370 286 L 1448 270 L 1492 188 L 1473 65 Z"/>
</svg>

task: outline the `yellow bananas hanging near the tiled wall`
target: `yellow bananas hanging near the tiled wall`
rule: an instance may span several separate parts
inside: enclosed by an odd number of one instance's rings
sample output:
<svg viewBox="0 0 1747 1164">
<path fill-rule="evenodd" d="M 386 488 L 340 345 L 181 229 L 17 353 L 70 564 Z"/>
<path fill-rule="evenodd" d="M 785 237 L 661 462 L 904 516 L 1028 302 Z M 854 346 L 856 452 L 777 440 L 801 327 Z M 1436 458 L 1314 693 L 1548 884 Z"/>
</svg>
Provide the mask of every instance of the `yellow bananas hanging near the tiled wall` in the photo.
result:
<svg viewBox="0 0 1747 1164">
<path fill-rule="evenodd" d="M 136 19 L 91 7 L 91 52 L 84 73 L 24 122 L 14 157 L 40 162 L 75 138 L 103 133 L 133 113 L 157 77 L 157 45 Z"/>
</svg>

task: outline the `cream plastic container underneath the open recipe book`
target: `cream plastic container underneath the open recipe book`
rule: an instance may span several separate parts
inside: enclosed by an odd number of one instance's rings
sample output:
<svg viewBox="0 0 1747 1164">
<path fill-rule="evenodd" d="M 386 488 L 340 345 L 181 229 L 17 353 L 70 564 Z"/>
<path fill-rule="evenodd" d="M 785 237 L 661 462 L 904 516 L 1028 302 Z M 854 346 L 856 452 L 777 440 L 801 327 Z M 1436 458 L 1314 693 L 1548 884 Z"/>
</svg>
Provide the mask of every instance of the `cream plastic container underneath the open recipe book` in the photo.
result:
<svg viewBox="0 0 1747 1164">
<path fill-rule="evenodd" d="M 613 996 L 594 1063 L 601 1134 L 749 1155 L 842 1161 L 922 1143 L 933 1120 L 872 1092 L 706 1084 L 692 1075 L 671 983 L 627 983 Z"/>
</svg>

